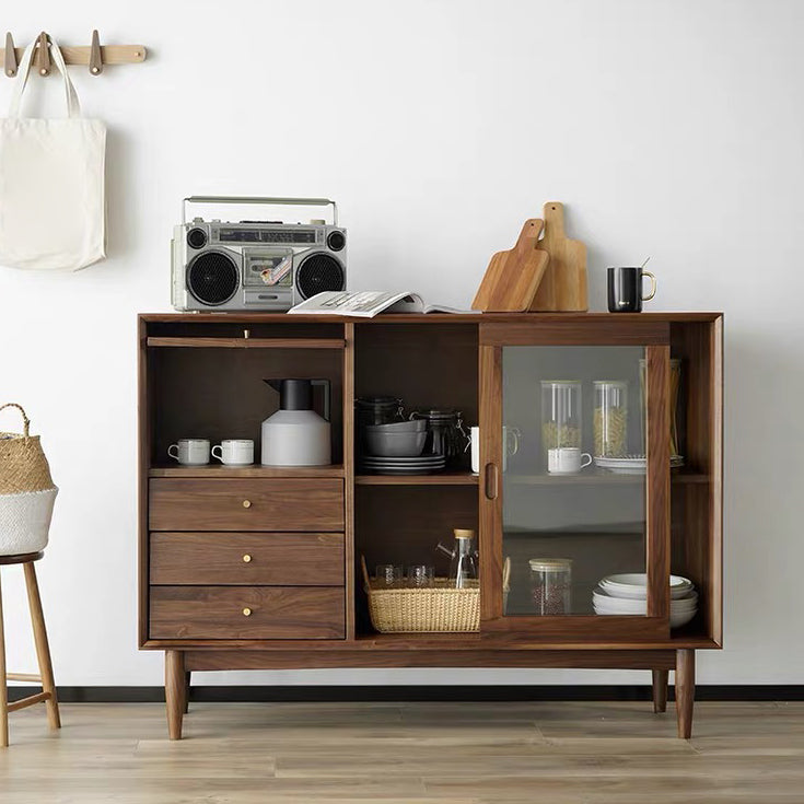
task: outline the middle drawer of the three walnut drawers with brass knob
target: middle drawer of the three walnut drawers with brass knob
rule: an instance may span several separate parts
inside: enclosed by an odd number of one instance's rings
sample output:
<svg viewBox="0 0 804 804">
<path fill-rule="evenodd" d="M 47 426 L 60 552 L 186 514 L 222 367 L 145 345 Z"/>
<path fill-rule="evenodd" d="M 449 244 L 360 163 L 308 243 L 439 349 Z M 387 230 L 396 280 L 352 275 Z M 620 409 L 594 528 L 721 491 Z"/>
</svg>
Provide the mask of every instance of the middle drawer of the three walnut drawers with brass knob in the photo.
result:
<svg viewBox="0 0 804 804">
<path fill-rule="evenodd" d="M 342 586 L 340 533 L 152 533 L 151 583 Z"/>
</svg>

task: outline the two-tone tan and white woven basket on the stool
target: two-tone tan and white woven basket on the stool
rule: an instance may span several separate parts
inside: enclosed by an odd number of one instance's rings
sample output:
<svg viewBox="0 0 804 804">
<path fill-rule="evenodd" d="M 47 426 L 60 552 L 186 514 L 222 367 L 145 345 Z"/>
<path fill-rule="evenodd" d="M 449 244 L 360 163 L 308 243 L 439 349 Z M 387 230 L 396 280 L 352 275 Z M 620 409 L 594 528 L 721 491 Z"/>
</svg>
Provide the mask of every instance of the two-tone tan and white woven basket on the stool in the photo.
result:
<svg viewBox="0 0 804 804">
<path fill-rule="evenodd" d="M 0 556 L 38 552 L 47 545 L 58 489 L 25 411 L 14 403 L 4 408 L 22 413 L 23 432 L 0 432 Z"/>
</svg>

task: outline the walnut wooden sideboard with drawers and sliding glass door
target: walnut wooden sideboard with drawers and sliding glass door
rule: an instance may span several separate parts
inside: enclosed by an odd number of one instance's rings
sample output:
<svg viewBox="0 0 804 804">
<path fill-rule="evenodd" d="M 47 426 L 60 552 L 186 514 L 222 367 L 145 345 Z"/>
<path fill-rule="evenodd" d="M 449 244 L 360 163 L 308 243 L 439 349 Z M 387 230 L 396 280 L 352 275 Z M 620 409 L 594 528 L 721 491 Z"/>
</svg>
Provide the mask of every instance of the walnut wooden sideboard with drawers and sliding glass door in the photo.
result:
<svg viewBox="0 0 804 804">
<path fill-rule="evenodd" d="M 695 651 L 722 645 L 721 314 L 151 314 L 138 337 L 139 645 L 165 652 L 171 738 L 193 671 L 445 666 L 650 669 L 655 711 L 674 669 L 678 734 L 689 737 Z M 333 465 L 167 458 L 187 436 L 254 439 L 258 457 L 260 422 L 278 405 L 261 381 L 288 376 L 330 381 Z M 627 384 L 643 474 L 545 471 L 539 383 L 557 377 L 581 384 L 585 452 L 593 383 Z M 374 395 L 479 424 L 479 475 L 468 452 L 441 474 L 361 473 L 354 400 Z M 521 433 L 515 454 L 503 454 L 503 426 Z M 669 468 L 672 441 L 680 469 Z M 458 527 L 479 534 L 479 631 L 375 632 L 360 557 L 443 573 L 434 548 Z M 534 610 L 535 556 L 572 559 L 571 610 Z M 645 616 L 596 615 L 596 581 L 627 571 L 648 574 Z M 671 573 L 699 595 L 680 628 Z"/>
</svg>

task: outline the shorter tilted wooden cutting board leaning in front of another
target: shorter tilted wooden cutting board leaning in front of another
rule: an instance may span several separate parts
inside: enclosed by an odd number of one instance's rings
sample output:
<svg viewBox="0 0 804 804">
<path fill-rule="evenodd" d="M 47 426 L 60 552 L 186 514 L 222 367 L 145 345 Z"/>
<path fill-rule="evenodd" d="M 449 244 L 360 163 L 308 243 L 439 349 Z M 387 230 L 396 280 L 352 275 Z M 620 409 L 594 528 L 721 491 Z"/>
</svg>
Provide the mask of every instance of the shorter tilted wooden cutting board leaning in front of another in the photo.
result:
<svg viewBox="0 0 804 804">
<path fill-rule="evenodd" d="M 491 257 L 471 302 L 473 310 L 489 313 L 524 313 L 531 310 L 550 261 L 548 253 L 537 247 L 543 225 L 539 218 L 529 218 L 516 245 Z"/>
</svg>

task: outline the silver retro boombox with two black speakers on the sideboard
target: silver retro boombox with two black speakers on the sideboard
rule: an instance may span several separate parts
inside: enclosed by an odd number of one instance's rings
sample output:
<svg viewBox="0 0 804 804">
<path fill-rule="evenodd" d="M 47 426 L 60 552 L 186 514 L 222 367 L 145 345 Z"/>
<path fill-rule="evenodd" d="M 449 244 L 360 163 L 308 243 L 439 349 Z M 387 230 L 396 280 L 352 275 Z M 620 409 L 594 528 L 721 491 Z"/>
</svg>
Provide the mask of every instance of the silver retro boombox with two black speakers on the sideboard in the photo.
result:
<svg viewBox="0 0 804 804">
<path fill-rule="evenodd" d="M 333 207 L 333 224 L 195 218 L 187 203 L 272 203 Z M 346 289 L 346 230 L 328 198 L 191 196 L 172 244 L 176 310 L 282 313 L 325 290 Z"/>
</svg>

